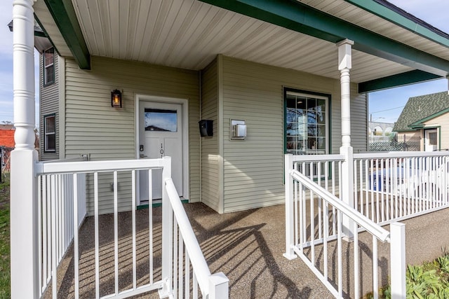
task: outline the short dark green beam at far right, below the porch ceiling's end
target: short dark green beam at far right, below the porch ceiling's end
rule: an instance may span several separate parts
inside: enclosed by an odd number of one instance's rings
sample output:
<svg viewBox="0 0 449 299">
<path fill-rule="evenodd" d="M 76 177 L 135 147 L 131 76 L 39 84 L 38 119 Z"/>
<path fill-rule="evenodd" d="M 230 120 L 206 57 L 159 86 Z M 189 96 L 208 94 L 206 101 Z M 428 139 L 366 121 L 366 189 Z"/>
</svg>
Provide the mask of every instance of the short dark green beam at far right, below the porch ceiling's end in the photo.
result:
<svg viewBox="0 0 449 299">
<path fill-rule="evenodd" d="M 431 81 L 441 77 L 435 74 L 427 73 L 427 71 L 420 71 L 415 69 L 413 71 L 406 71 L 405 73 L 378 78 L 375 80 L 358 83 L 358 92 L 373 92 L 377 90 L 384 90 L 387 88 L 394 88 L 398 86 L 409 85 L 424 81 Z"/>
</svg>

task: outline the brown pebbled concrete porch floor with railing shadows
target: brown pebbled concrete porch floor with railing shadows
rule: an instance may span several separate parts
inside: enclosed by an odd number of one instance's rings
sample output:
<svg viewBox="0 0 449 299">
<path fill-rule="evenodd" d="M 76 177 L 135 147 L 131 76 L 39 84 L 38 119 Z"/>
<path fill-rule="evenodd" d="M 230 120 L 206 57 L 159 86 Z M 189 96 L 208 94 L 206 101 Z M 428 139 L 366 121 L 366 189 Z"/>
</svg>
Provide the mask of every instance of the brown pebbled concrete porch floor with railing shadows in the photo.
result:
<svg viewBox="0 0 449 299">
<path fill-rule="evenodd" d="M 277 205 L 229 214 L 217 214 L 204 204 L 184 205 L 210 272 L 224 272 L 229 278 L 229 298 L 332 298 L 309 268 L 299 258 L 287 260 L 285 252 L 284 206 Z M 137 216 L 138 244 L 148 243 L 147 210 Z M 130 255 L 130 212 L 119 214 L 119 242 L 128 244 L 119 252 L 119 288 L 132 285 Z M 449 209 L 420 216 L 406 223 L 406 260 L 416 264 L 441 255 L 449 249 L 447 232 Z M 100 295 L 114 290 L 114 230 L 112 214 L 100 216 Z M 155 242 L 161 237 L 161 208 L 154 208 Z M 389 229 L 388 226 L 386 227 Z M 93 266 L 93 217 L 86 218 L 80 230 L 80 298 L 95 297 Z M 363 234 L 362 234 L 363 235 Z M 370 237 L 368 237 L 369 239 Z M 159 239 L 159 241 L 158 241 Z M 363 242 L 363 236 L 361 237 Z M 350 247 L 350 246 L 349 246 Z M 155 280 L 160 277 L 161 248 L 154 249 Z M 388 256 L 380 249 L 379 259 Z M 381 264 L 381 263 L 380 263 Z M 349 270 L 349 269 L 348 269 Z M 370 271 L 370 270 L 368 270 Z M 348 271 L 349 272 L 349 271 Z M 138 246 L 138 285 L 148 281 L 148 249 Z M 382 280 L 387 279 L 385 276 Z M 384 284 L 383 281 L 380 284 Z M 58 267 L 58 298 L 74 298 L 73 246 Z M 347 286 L 350 287 L 350 286 Z M 347 288 L 346 287 L 346 288 Z M 349 291 L 349 293 L 351 293 Z M 346 295 L 349 297 L 349 295 Z M 51 286 L 44 298 L 51 298 Z M 134 298 L 159 298 L 146 293 Z"/>
</svg>

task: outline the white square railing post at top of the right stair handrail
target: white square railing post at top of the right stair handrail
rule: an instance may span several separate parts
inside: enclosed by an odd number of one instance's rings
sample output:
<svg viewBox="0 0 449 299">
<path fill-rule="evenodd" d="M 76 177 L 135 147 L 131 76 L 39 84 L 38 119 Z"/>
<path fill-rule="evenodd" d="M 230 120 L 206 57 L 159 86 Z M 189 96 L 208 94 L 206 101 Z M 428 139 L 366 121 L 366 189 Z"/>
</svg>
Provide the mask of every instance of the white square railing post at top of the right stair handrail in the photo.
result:
<svg viewBox="0 0 449 299">
<path fill-rule="evenodd" d="M 293 155 L 285 155 L 285 184 L 286 184 L 286 252 L 283 256 L 289 260 L 297 258 L 293 251 L 295 245 L 295 235 L 293 228 L 295 227 L 294 204 L 293 204 L 293 179 L 290 172 L 293 170 Z"/>
</svg>

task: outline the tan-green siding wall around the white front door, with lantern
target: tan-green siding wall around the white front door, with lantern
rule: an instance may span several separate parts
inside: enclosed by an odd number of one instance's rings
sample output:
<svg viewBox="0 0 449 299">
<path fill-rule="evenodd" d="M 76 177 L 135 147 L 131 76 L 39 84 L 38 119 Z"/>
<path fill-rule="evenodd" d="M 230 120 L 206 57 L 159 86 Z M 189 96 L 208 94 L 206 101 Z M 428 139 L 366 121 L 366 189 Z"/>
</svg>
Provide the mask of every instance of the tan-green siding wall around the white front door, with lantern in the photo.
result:
<svg viewBox="0 0 449 299">
<path fill-rule="evenodd" d="M 92 57 L 91 71 L 65 63 L 65 158 L 90 154 L 91 160 L 135 159 L 135 95 L 188 99 L 189 195 L 199 200 L 199 74 L 197 71 Z M 123 91 L 123 108 L 111 107 L 110 92 Z M 130 174 L 119 184 L 119 211 L 129 210 Z M 110 176 L 110 177 L 109 177 Z M 112 175 L 100 176 L 100 212 L 113 211 Z M 93 211 L 88 181 L 88 213 Z"/>
</svg>

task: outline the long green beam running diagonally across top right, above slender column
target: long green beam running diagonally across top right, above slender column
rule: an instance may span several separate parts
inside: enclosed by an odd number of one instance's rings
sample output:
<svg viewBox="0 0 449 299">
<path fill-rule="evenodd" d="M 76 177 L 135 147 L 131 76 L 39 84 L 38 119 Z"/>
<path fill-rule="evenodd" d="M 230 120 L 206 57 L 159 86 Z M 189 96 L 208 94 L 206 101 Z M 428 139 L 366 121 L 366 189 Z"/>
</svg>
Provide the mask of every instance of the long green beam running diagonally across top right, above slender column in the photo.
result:
<svg viewBox="0 0 449 299">
<path fill-rule="evenodd" d="M 311 8 L 299 1 L 279 0 L 200 0 L 229 11 L 285 27 L 302 34 L 337 43 L 354 41 L 353 48 L 408 65 L 438 76 L 449 74 L 449 61 L 394 41 L 368 29 Z M 449 42 L 449 41 L 448 41 Z"/>
</svg>

